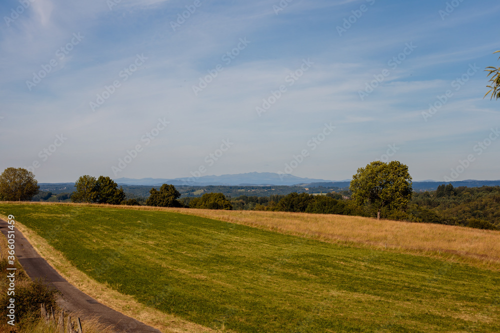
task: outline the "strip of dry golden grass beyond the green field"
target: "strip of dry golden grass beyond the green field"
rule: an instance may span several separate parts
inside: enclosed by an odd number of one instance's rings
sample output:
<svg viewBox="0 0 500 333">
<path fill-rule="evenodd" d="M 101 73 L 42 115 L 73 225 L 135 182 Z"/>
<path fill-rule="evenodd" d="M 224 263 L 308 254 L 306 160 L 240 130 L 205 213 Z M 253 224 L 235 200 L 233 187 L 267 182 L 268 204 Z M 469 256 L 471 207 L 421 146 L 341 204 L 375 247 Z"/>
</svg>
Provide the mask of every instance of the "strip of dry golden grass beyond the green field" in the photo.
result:
<svg viewBox="0 0 500 333">
<path fill-rule="evenodd" d="M 359 216 L 168 209 L 324 242 L 387 249 L 500 269 L 500 232 Z"/>
</svg>

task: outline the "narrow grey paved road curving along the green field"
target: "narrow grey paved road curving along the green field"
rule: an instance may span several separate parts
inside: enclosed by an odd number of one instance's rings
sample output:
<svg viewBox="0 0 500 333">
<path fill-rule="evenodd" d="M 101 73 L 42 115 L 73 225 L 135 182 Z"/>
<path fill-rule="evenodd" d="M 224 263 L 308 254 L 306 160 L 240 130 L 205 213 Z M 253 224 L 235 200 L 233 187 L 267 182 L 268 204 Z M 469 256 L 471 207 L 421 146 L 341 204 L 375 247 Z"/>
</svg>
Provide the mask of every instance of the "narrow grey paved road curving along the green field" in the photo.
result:
<svg viewBox="0 0 500 333">
<path fill-rule="evenodd" d="M 0 219 L 0 231 L 7 234 L 7 222 Z M 15 254 L 27 275 L 34 280 L 46 278 L 47 283 L 62 293 L 63 299 L 58 303 L 61 308 L 71 312 L 80 312 L 80 318 L 98 317 L 99 322 L 111 325 L 116 332 L 161 333 L 133 318 L 127 317 L 90 296 L 82 293 L 64 280 L 46 261 L 33 249 L 22 233 L 15 228 Z"/>
</svg>

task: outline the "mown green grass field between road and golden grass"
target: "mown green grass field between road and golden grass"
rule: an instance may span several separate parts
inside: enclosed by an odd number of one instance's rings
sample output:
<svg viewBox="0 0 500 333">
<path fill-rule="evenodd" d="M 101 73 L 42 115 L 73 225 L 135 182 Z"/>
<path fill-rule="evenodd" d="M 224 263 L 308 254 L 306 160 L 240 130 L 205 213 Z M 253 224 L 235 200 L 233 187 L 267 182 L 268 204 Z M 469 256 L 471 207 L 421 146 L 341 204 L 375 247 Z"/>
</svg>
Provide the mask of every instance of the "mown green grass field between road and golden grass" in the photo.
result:
<svg viewBox="0 0 500 333">
<path fill-rule="evenodd" d="M 500 332 L 500 275 L 171 212 L 0 205 L 79 270 L 236 332 Z"/>
</svg>

